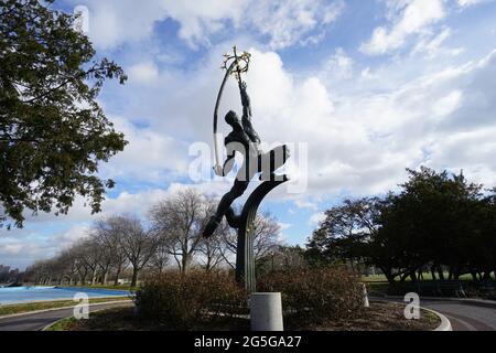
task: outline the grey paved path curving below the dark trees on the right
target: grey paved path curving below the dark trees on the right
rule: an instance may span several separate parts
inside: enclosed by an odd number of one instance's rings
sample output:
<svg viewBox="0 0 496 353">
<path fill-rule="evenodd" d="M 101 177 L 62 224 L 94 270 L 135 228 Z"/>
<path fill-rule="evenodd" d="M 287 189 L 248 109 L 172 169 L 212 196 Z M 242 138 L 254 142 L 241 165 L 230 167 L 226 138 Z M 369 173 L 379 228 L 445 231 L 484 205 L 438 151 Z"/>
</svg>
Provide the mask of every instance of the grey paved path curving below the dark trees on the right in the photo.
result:
<svg viewBox="0 0 496 353">
<path fill-rule="evenodd" d="M 453 331 L 496 331 L 496 307 L 428 300 L 421 300 L 421 306 L 443 313 L 451 321 Z"/>
</svg>

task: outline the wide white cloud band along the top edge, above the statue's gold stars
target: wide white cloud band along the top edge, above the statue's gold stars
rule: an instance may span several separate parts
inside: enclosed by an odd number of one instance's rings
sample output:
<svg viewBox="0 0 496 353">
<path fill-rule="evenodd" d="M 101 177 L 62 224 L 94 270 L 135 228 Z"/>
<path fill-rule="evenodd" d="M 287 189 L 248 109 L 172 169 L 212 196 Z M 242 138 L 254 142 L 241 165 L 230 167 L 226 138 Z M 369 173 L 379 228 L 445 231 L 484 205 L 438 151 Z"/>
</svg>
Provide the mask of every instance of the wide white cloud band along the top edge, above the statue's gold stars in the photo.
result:
<svg viewBox="0 0 496 353">
<path fill-rule="evenodd" d="M 192 47 L 209 46 L 222 31 L 257 33 L 272 49 L 319 42 L 344 8 L 343 0 L 67 0 L 89 8 L 89 36 L 99 49 L 149 39 L 157 22 L 180 24 L 177 35 Z"/>
</svg>

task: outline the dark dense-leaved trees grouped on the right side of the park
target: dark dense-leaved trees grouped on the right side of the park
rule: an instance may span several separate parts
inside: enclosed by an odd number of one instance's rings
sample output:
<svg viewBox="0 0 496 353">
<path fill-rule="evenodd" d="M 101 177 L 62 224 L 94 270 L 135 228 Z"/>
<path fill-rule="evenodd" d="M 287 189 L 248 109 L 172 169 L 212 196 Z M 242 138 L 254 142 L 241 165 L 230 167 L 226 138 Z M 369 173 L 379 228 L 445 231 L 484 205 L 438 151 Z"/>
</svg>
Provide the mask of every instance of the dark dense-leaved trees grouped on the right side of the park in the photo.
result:
<svg viewBox="0 0 496 353">
<path fill-rule="evenodd" d="M 409 170 L 397 193 L 328 210 L 308 244 L 313 264 L 364 264 L 393 284 L 430 271 L 440 279 L 496 270 L 496 189 L 428 168 Z M 445 276 L 445 272 L 446 276 Z"/>
</svg>

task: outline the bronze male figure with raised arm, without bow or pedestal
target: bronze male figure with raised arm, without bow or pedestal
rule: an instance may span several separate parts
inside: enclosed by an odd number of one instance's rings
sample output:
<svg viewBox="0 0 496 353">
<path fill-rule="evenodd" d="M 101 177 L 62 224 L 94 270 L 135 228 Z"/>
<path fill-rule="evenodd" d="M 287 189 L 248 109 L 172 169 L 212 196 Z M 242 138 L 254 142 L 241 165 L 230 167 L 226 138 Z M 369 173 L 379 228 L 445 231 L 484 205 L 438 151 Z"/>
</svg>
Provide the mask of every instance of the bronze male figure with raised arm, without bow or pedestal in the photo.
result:
<svg viewBox="0 0 496 353">
<path fill-rule="evenodd" d="M 226 137 L 224 145 L 227 150 L 227 159 L 224 165 L 215 167 L 214 171 L 218 176 L 226 176 L 235 164 L 236 152 L 242 154 L 244 162 L 239 169 L 233 188 L 220 200 L 215 215 L 211 217 L 204 228 L 203 236 L 211 237 L 219 226 L 223 217 L 226 216 L 229 224 L 235 223 L 231 204 L 241 196 L 251 179 L 261 173 L 260 180 L 269 181 L 277 178 L 284 179 L 285 175 L 274 175 L 274 171 L 281 168 L 290 157 L 287 146 L 279 146 L 268 153 L 259 149 L 260 138 L 251 125 L 251 105 L 246 90 L 245 82 L 239 81 L 239 92 L 241 94 L 242 117 L 239 120 L 237 114 L 233 110 L 227 113 L 225 120 L 233 128 L 233 131 Z"/>
</svg>

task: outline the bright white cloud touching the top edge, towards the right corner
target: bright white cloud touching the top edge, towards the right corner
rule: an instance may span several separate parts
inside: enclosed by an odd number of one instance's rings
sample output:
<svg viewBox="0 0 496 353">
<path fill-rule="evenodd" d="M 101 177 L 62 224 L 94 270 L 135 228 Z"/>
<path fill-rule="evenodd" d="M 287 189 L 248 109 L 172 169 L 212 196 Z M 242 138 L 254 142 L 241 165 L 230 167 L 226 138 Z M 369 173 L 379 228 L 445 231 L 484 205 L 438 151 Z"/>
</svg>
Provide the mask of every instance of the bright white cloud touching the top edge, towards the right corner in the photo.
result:
<svg viewBox="0 0 496 353">
<path fill-rule="evenodd" d="M 414 34 L 424 33 L 427 28 L 445 17 L 443 0 L 388 1 L 392 25 L 378 26 L 368 43 L 360 50 L 369 55 L 386 54 L 406 45 Z"/>
</svg>

